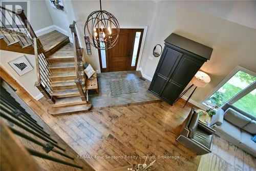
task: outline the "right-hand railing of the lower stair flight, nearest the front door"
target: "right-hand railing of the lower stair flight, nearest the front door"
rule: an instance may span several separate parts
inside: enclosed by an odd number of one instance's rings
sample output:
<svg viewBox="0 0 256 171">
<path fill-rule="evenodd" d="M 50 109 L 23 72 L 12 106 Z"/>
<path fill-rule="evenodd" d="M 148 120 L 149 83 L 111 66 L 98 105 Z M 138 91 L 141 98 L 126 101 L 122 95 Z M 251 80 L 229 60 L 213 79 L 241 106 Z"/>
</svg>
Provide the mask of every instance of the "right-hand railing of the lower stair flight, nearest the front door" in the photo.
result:
<svg viewBox="0 0 256 171">
<path fill-rule="evenodd" d="M 74 80 L 74 82 L 76 83 L 76 86 L 79 90 L 82 101 L 88 101 L 88 90 L 86 90 L 86 77 L 83 71 L 82 48 L 79 46 L 75 24 L 76 22 L 73 21 L 73 24 L 69 26 L 73 36 L 74 59 L 76 68 L 76 79 Z"/>
</svg>

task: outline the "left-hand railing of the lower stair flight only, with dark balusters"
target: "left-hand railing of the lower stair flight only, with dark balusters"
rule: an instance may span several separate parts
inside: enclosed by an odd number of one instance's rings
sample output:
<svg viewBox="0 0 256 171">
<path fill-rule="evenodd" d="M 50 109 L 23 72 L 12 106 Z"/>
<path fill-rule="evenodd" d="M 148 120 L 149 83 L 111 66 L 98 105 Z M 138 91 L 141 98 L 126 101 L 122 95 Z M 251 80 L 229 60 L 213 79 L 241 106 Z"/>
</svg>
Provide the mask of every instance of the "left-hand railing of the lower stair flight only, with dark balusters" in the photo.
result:
<svg viewBox="0 0 256 171">
<path fill-rule="evenodd" d="M 38 38 L 34 37 L 34 50 L 35 50 L 35 63 L 36 63 L 36 74 L 37 74 L 37 82 L 35 82 L 35 86 L 37 89 L 44 95 L 46 100 L 50 104 L 54 104 L 55 100 L 51 96 L 52 88 L 51 88 L 51 80 L 49 75 L 51 71 L 48 69 L 49 62 L 44 54 L 44 50 L 42 46 L 37 47 Z"/>
</svg>

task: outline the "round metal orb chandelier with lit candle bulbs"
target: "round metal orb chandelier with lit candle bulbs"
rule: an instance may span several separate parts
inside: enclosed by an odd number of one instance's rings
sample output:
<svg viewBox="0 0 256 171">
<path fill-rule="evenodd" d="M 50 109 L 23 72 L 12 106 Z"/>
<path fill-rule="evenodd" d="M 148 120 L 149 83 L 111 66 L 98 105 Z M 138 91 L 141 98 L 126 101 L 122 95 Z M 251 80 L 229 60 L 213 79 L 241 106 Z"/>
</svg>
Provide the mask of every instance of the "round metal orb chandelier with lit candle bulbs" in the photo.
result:
<svg viewBox="0 0 256 171">
<path fill-rule="evenodd" d="M 110 49 L 118 41 L 119 23 L 116 17 L 101 9 L 93 11 L 84 25 L 84 35 L 87 41 L 97 49 Z"/>
</svg>

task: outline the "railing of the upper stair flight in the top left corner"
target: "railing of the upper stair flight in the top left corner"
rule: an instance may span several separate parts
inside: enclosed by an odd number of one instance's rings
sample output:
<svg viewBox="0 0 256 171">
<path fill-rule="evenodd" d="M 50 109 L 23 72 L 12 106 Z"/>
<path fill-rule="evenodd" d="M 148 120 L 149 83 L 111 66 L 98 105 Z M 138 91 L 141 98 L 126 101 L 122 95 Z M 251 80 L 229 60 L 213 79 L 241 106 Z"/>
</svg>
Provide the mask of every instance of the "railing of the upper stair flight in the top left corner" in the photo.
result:
<svg viewBox="0 0 256 171">
<path fill-rule="evenodd" d="M 37 36 L 31 27 L 24 10 L 18 9 L 16 11 L 12 11 L 0 6 L 0 11 L 2 15 L 0 32 L 1 38 L 4 38 L 7 44 L 19 42 L 23 48 L 32 45 L 33 39 L 37 39 Z M 41 42 L 39 40 L 37 40 L 37 44 L 41 46 Z"/>
</svg>

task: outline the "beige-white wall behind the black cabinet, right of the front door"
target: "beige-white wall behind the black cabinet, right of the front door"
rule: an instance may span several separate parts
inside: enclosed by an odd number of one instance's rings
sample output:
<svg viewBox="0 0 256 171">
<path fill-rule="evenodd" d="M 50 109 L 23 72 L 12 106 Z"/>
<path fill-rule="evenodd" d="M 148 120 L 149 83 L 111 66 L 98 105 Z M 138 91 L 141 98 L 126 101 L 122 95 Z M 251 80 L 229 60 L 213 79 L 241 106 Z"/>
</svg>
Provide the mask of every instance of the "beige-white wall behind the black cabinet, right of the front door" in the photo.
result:
<svg viewBox="0 0 256 171">
<path fill-rule="evenodd" d="M 256 70 L 256 29 L 229 22 L 220 17 L 208 15 L 173 2 L 161 2 L 157 27 L 150 49 L 160 43 L 172 32 L 197 41 L 214 49 L 210 61 L 201 70 L 209 73 L 211 82 L 198 88 L 193 99 L 201 102 L 237 65 Z M 159 58 L 148 59 L 144 53 L 142 69 L 144 74 L 153 77 Z M 189 94 L 188 92 L 187 94 Z"/>
</svg>

